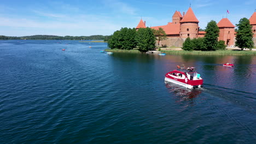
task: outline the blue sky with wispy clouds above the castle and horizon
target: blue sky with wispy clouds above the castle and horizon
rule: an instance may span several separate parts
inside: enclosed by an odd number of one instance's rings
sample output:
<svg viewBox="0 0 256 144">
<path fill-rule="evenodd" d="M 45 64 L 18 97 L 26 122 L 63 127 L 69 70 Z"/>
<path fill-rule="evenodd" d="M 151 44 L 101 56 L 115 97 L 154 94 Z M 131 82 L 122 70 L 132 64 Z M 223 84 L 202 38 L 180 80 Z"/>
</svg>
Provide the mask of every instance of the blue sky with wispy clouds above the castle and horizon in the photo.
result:
<svg viewBox="0 0 256 144">
<path fill-rule="evenodd" d="M 9 0 L 0 3 L 0 35 L 110 35 L 136 27 L 141 18 L 148 27 L 166 25 L 175 10 L 186 12 L 190 3 L 201 28 L 218 23 L 226 10 L 235 25 L 256 9 L 256 0 Z"/>
</svg>

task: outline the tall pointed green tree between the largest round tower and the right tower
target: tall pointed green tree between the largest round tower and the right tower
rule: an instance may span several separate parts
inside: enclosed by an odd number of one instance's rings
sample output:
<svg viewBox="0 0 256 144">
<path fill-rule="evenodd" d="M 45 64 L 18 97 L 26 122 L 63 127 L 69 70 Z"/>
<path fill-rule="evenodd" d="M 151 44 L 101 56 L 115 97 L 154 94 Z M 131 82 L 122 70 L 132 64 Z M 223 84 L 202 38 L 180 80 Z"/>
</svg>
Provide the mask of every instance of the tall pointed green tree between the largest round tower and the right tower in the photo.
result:
<svg viewBox="0 0 256 144">
<path fill-rule="evenodd" d="M 217 49 L 218 37 L 219 37 L 219 28 L 216 21 L 208 22 L 205 29 L 205 45 L 207 51 L 215 51 Z"/>
</svg>

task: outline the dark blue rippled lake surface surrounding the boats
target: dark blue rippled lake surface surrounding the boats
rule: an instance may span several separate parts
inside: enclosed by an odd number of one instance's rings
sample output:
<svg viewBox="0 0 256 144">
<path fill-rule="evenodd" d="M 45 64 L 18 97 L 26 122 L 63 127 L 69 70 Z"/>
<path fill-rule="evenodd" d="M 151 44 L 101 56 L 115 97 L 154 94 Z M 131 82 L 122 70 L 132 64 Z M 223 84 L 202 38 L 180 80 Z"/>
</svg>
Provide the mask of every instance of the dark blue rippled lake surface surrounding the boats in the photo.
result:
<svg viewBox="0 0 256 144">
<path fill-rule="evenodd" d="M 0 40 L 0 143 L 256 142 L 255 56 L 100 53 L 106 48 Z M 196 67 L 203 88 L 165 83 L 179 64 Z"/>
</svg>

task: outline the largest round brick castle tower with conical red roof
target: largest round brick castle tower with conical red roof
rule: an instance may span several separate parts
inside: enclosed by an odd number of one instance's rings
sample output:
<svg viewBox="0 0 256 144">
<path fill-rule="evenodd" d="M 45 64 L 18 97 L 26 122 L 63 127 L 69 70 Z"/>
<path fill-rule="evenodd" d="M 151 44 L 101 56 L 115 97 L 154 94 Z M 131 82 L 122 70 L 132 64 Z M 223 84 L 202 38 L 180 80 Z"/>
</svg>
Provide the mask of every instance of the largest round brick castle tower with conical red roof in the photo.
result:
<svg viewBox="0 0 256 144">
<path fill-rule="evenodd" d="M 180 38 L 197 38 L 199 21 L 196 19 L 196 16 L 191 8 L 188 9 L 187 13 L 184 15 L 183 19 L 180 21 L 181 31 L 179 33 Z"/>
</svg>

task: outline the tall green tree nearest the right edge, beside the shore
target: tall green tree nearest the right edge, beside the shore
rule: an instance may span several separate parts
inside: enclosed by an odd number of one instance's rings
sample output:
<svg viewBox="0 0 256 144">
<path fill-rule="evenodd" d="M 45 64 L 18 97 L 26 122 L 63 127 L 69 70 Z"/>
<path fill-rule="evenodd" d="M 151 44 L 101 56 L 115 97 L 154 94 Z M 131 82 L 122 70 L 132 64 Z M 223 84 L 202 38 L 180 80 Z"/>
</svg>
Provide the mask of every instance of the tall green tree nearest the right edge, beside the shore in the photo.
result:
<svg viewBox="0 0 256 144">
<path fill-rule="evenodd" d="M 237 33 L 236 33 L 236 43 L 235 46 L 238 46 L 243 50 L 244 48 L 248 48 L 252 50 L 253 48 L 253 33 L 252 33 L 252 26 L 250 22 L 245 17 L 242 18 L 237 26 Z"/>
</svg>

